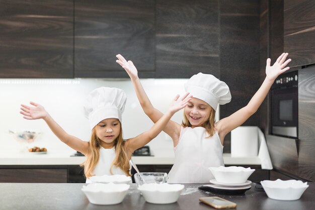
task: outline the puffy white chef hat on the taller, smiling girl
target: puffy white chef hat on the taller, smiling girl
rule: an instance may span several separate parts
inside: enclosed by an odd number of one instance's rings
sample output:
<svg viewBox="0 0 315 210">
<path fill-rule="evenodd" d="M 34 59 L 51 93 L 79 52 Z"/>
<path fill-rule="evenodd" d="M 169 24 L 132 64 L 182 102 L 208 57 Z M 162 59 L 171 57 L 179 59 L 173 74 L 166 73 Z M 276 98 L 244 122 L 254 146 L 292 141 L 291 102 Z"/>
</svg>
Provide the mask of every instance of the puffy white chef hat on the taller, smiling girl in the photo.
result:
<svg viewBox="0 0 315 210">
<path fill-rule="evenodd" d="M 222 105 L 231 101 L 231 93 L 227 84 L 211 74 L 195 74 L 184 86 L 186 92 L 207 102 L 214 110 L 218 104 Z"/>
</svg>

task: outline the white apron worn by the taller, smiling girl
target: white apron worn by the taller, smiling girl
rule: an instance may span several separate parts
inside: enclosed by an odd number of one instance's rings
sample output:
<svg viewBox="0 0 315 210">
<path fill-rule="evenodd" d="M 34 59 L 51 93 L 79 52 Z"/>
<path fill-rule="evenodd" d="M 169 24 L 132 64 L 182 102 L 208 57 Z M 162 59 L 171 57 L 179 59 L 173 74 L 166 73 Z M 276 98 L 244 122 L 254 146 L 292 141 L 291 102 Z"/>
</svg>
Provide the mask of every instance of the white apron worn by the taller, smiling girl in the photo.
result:
<svg viewBox="0 0 315 210">
<path fill-rule="evenodd" d="M 168 175 L 169 183 L 209 182 L 213 175 L 208 167 L 224 166 L 223 146 L 217 132 L 206 138 L 203 127 L 182 127 L 175 150 L 175 163 Z"/>
</svg>

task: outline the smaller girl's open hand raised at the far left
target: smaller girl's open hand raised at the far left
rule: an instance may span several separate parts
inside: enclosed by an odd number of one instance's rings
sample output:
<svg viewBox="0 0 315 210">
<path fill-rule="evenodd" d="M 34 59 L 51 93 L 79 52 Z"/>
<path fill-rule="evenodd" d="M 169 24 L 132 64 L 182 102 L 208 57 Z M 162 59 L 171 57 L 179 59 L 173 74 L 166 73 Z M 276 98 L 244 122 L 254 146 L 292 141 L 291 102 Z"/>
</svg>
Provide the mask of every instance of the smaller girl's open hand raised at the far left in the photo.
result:
<svg viewBox="0 0 315 210">
<path fill-rule="evenodd" d="M 44 119 L 48 114 L 44 107 L 33 101 L 30 102 L 34 107 L 29 107 L 21 104 L 21 114 L 24 115 L 23 118 L 27 120 L 37 120 Z"/>
</svg>

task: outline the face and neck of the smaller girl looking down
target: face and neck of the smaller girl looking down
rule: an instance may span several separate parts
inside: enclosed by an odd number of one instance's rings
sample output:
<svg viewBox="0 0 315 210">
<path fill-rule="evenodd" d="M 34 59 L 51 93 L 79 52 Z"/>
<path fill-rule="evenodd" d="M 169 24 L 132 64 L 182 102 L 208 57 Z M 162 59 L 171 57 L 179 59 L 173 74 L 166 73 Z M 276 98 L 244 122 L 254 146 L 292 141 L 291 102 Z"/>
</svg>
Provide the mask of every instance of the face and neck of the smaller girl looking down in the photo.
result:
<svg viewBox="0 0 315 210">
<path fill-rule="evenodd" d="M 96 136 L 105 149 L 111 149 L 120 133 L 120 122 L 116 118 L 102 120 L 96 125 Z"/>
</svg>

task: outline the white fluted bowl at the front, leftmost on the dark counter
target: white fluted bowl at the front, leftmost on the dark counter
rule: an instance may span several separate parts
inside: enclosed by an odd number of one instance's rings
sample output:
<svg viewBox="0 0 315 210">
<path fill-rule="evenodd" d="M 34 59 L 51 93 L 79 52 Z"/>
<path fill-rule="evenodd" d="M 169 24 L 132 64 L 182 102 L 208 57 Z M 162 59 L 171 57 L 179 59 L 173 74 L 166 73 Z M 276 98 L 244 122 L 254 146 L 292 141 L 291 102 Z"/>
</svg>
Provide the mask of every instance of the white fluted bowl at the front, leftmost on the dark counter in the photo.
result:
<svg viewBox="0 0 315 210">
<path fill-rule="evenodd" d="M 122 202 L 129 187 L 129 184 L 93 183 L 84 185 L 82 191 L 93 204 L 112 205 Z"/>
</svg>

